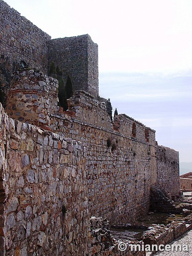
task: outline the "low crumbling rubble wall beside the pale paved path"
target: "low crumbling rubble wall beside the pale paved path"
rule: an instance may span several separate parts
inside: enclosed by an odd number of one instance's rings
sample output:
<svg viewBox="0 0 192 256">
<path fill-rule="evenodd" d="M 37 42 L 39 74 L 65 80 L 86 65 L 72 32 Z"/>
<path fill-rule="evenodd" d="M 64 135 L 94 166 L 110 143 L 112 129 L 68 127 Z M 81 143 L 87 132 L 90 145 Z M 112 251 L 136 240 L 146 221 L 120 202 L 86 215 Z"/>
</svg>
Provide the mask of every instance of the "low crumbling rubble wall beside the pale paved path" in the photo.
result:
<svg viewBox="0 0 192 256">
<path fill-rule="evenodd" d="M 115 239 L 111 234 L 109 221 L 106 219 L 91 217 L 90 224 L 92 255 L 145 256 L 145 250 L 138 251 L 138 247 L 136 247 L 137 250 L 131 251 L 130 245 L 140 244 L 141 248 L 143 245 L 143 248 L 145 249 L 145 245 L 152 246 L 157 244 L 158 249 L 158 246 L 161 244 L 170 244 L 174 239 L 177 239 L 192 228 L 192 215 L 188 215 L 186 218 L 178 218 L 166 226 L 163 224 L 152 224 L 151 227 L 146 227 L 147 230 L 143 232 L 140 241 L 135 239 Z M 125 227 L 124 230 L 126 230 Z M 134 232 L 134 228 L 132 231 Z M 121 241 L 127 244 L 127 249 L 123 252 L 118 249 L 118 244 Z M 156 252 L 156 250 L 154 250 L 154 252 Z M 149 253 L 147 255 L 149 255 Z M 152 253 L 150 255 L 152 255 Z"/>
</svg>

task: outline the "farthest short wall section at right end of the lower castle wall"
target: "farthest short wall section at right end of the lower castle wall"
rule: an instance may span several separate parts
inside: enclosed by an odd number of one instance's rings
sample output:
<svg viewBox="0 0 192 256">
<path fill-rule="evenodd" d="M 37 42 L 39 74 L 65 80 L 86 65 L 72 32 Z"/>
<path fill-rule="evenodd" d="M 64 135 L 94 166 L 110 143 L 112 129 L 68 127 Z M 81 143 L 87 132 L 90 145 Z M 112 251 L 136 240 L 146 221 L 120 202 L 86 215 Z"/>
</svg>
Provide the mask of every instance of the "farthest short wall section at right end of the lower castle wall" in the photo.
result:
<svg viewBox="0 0 192 256">
<path fill-rule="evenodd" d="M 158 178 L 160 189 L 170 199 L 174 199 L 179 192 L 179 152 L 172 148 L 158 146 L 157 151 Z"/>
</svg>

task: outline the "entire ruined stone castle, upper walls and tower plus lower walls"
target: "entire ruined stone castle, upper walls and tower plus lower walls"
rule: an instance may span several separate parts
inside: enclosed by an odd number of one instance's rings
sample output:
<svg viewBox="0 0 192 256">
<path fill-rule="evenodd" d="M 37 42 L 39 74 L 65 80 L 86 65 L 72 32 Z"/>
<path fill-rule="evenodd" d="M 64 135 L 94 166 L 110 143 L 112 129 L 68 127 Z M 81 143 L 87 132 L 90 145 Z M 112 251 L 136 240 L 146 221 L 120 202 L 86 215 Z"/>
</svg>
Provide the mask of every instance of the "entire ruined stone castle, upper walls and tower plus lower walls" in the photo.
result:
<svg viewBox="0 0 192 256">
<path fill-rule="evenodd" d="M 29 69 L 17 69 L 23 60 Z M 58 107 L 51 62 L 73 83 Z M 0 0 L 0 256 L 90 254 L 90 216 L 147 214 L 152 187 L 179 195 L 179 153 L 99 98 L 98 46 L 51 39 Z"/>
</svg>

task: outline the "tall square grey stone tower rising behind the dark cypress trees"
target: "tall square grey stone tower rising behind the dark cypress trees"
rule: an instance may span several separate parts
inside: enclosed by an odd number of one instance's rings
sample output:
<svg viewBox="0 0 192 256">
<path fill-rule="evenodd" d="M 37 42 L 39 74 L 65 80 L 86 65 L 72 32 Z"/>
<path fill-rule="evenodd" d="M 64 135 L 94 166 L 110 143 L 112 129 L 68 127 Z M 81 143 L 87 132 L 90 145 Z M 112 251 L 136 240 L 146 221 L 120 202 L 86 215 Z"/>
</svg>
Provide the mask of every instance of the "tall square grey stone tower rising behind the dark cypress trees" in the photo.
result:
<svg viewBox="0 0 192 256">
<path fill-rule="evenodd" d="M 49 41 L 49 65 L 51 62 L 67 76 L 74 90 L 85 90 L 99 96 L 98 46 L 89 35 L 70 38 L 57 38 Z"/>
</svg>

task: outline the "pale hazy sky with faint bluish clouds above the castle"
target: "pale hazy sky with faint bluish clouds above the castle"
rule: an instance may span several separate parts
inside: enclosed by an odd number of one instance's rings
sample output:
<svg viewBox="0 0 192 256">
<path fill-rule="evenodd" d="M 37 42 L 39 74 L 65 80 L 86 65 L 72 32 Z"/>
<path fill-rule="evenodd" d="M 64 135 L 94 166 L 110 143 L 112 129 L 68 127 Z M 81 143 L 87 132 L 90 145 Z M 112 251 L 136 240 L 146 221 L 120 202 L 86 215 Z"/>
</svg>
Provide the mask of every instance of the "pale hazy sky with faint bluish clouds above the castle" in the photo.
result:
<svg viewBox="0 0 192 256">
<path fill-rule="evenodd" d="M 6 0 L 52 38 L 99 45 L 100 95 L 192 162 L 191 0 Z"/>
</svg>

